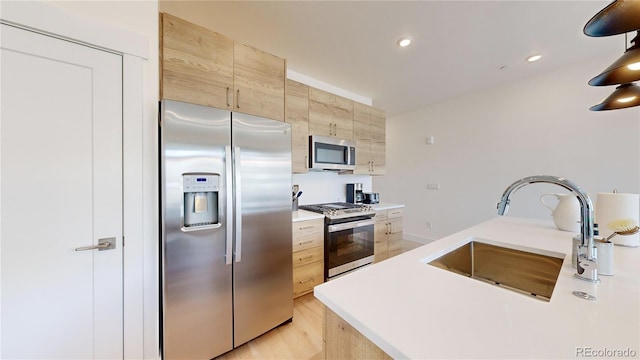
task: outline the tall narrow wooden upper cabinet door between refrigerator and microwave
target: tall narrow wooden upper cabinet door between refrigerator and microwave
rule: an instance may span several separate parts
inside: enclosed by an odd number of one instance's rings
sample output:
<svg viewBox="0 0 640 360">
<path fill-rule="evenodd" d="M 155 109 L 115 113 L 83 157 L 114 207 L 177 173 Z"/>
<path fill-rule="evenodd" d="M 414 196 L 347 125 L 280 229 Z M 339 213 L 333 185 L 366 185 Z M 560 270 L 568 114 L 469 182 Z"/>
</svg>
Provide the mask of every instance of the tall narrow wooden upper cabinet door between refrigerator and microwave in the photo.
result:
<svg viewBox="0 0 640 360">
<path fill-rule="evenodd" d="M 291 165 L 294 173 L 309 171 L 309 86 L 287 80 L 285 121 L 291 124 Z"/>
</svg>

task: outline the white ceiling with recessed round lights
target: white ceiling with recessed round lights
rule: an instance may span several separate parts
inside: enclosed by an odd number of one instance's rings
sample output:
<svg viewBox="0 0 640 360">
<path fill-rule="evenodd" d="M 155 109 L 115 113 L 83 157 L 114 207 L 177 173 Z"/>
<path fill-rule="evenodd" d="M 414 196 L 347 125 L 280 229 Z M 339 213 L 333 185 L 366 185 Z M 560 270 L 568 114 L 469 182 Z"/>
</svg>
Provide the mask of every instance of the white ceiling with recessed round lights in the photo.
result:
<svg viewBox="0 0 640 360">
<path fill-rule="evenodd" d="M 595 57 L 615 61 L 624 36 L 582 33 L 609 2 L 181 0 L 159 9 L 284 57 L 290 70 L 393 116 Z M 396 45 L 402 35 L 413 38 L 408 48 Z M 525 61 L 536 53 L 540 61 Z"/>
</svg>

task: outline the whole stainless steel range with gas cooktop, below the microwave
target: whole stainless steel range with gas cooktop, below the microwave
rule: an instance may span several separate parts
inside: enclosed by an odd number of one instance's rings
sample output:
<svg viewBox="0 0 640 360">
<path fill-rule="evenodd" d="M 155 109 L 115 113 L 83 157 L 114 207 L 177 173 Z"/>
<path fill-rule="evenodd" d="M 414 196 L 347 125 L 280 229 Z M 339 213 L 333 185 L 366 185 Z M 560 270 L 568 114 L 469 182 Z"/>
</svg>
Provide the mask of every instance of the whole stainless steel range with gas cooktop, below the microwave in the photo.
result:
<svg viewBox="0 0 640 360">
<path fill-rule="evenodd" d="M 325 216 L 325 280 L 373 263 L 376 212 L 371 206 L 337 202 L 299 208 Z"/>
</svg>

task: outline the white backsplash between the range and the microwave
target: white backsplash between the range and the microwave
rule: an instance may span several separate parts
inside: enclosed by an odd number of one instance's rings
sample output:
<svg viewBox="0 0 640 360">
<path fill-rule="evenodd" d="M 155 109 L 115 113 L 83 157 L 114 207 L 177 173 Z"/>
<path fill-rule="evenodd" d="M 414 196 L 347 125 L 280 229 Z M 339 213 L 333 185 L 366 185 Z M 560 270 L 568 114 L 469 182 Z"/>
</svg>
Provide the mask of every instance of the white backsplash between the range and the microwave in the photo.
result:
<svg viewBox="0 0 640 360">
<path fill-rule="evenodd" d="M 340 175 L 329 171 L 310 171 L 307 174 L 293 174 L 291 183 L 300 186 L 302 196 L 299 205 L 345 202 L 347 184 L 362 183 L 364 192 L 371 192 L 371 176 Z M 384 200 L 380 194 L 381 200 Z"/>
</svg>

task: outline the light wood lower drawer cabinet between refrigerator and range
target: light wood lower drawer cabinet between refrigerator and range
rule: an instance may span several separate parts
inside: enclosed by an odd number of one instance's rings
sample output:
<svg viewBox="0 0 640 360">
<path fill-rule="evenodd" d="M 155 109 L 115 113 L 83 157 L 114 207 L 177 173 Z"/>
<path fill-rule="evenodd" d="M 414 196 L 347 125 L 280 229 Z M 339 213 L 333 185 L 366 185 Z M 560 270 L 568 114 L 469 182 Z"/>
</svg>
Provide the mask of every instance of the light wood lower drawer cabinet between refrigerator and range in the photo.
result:
<svg viewBox="0 0 640 360">
<path fill-rule="evenodd" d="M 324 282 L 324 220 L 293 223 L 293 297 Z"/>
</svg>

